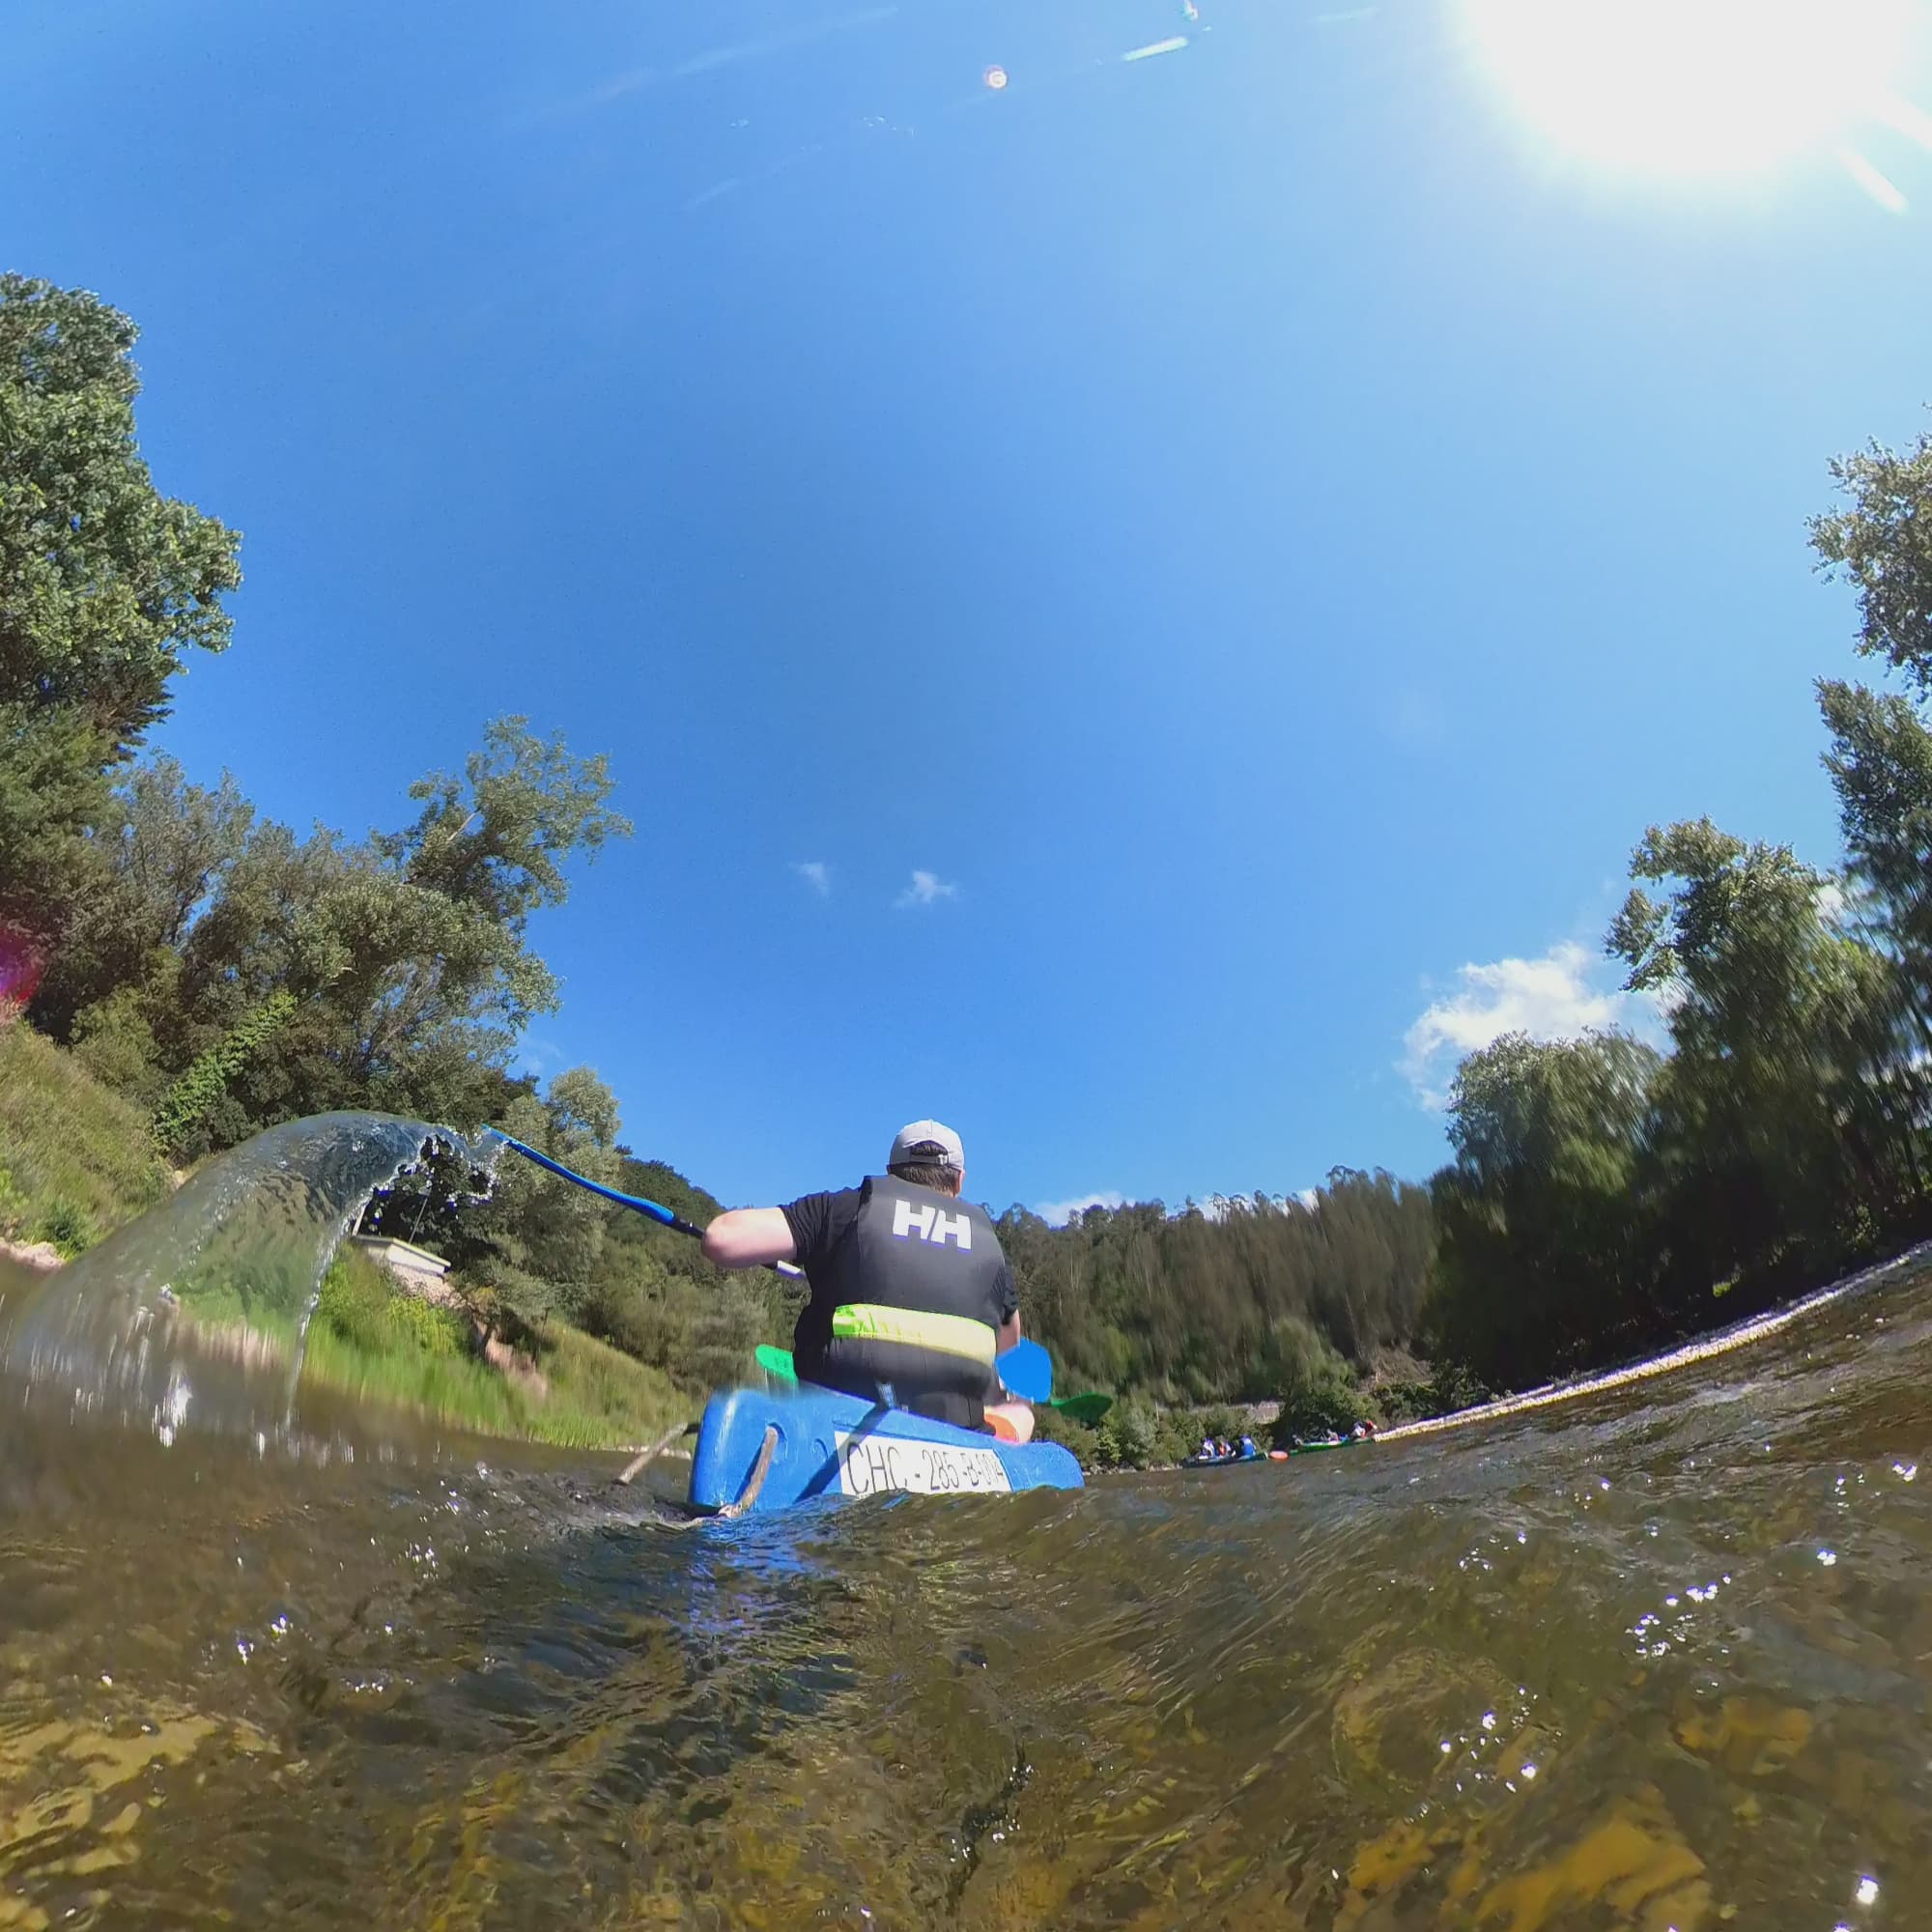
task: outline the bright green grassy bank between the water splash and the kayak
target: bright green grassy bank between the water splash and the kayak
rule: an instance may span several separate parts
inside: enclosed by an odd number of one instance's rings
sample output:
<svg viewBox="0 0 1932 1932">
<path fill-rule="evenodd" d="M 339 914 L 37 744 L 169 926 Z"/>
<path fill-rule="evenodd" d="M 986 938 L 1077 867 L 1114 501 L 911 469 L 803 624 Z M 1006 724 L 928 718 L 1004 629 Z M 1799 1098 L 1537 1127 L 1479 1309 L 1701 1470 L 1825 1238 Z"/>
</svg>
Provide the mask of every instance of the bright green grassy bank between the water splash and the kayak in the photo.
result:
<svg viewBox="0 0 1932 1932">
<path fill-rule="evenodd" d="M 537 1366 L 547 1395 L 471 1354 L 468 1318 L 398 1293 L 375 1262 L 344 1248 L 323 1279 L 301 1379 L 481 1435 L 566 1449 L 655 1441 L 694 1414 L 655 1368 L 566 1323 L 543 1331 Z"/>
</svg>

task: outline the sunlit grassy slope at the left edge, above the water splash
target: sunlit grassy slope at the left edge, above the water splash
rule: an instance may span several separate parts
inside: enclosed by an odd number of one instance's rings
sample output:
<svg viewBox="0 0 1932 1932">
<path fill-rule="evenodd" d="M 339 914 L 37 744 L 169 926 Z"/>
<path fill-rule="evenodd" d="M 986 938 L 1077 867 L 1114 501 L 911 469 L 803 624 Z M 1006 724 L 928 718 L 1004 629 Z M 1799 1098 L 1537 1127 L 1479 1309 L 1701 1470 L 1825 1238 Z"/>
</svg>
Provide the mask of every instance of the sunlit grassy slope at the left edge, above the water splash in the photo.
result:
<svg viewBox="0 0 1932 1932">
<path fill-rule="evenodd" d="M 75 1256 L 166 1192 L 147 1117 L 33 1028 L 0 1020 L 0 1235 Z"/>
</svg>

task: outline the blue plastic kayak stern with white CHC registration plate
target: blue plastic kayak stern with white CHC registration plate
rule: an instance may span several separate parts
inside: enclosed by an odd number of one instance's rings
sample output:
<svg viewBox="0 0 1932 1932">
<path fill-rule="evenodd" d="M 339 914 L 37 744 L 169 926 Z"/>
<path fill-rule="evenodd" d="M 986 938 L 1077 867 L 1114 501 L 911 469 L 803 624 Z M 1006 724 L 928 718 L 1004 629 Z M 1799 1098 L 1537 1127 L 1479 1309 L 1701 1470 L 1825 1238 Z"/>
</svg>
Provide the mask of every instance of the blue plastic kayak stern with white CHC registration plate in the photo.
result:
<svg viewBox="0 0 1932 1932">
<path fill-rule="evenodd" d="M 763 1464 L 763 1468 L 761 1468 Z M 1072 1451 L 1009 1443 L 837 1389 L 723 1389 L 692 1455 L 692 1509 L 746 1515 L 815 1495 L 1007 1495 L 1080 1490 Z"/>
</svg>

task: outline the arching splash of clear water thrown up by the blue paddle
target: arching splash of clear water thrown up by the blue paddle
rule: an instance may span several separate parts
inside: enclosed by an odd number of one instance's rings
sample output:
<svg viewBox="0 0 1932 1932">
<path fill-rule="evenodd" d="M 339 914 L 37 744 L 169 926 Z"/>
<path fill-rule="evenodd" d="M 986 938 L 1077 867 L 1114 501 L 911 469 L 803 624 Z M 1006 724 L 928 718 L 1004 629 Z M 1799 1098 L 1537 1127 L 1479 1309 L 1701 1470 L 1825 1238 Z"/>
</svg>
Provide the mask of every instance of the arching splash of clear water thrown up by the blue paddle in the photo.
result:
<svg viewBox="0 0 1932 1932">
<path fill-rule="evenodd" d="M 286 1437 L 309 1318 L 369 1198 L 450 1128 L 379 1113 L 290 1121 L 211 1161 L 172 1200 L 0 1300 L 0 1385 L 25 1406 L 153 1430 Z"/>
</svg>

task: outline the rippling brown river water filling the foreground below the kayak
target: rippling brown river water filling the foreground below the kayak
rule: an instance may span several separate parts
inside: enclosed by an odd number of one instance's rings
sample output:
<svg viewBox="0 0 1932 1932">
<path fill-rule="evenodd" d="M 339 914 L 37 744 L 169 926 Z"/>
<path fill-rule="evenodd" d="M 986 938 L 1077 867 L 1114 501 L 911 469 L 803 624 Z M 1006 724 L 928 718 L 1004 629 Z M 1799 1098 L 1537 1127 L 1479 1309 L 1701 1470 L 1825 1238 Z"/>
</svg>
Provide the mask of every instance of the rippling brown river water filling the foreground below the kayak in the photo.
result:
<svg viewBox="0 0 1932 1932">
<path fill-rule="evenodd" d="M 1405 1443 L 696 1530 L 583 1457 L 12 1405 L 0 1926 L 1922 1926 L 1928 1289 Z"/>
</svg>

